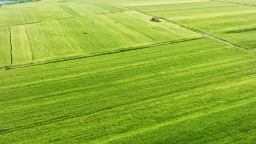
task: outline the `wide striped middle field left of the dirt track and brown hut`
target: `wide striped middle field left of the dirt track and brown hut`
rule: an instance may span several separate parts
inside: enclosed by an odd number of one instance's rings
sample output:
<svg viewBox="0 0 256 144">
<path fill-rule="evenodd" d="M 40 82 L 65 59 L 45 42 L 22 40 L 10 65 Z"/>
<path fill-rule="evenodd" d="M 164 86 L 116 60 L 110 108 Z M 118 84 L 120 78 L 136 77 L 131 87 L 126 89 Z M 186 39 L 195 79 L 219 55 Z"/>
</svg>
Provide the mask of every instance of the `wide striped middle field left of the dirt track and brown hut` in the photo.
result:
<svg viewBox="0 0 256 144">
<path fill-rule="evenodd" d="M 173 23 L 150 19 L 126 11 L 12 26 L 12 65 L 201 37 Z"/>
</svg>

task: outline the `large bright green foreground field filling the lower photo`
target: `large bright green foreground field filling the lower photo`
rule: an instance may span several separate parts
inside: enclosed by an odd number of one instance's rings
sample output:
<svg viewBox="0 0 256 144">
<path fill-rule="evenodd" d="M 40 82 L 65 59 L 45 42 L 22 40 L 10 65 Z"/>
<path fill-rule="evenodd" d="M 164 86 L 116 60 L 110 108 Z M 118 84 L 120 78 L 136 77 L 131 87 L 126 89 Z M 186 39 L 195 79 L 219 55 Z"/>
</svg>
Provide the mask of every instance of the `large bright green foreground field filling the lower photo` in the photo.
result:
<svg viewBox="0 0 256 144">
<path fill-rule="evenodd" d="M 253 142 L 255 62 L 204 38 L 0 71 L 0 142 Z"/>
</svg>

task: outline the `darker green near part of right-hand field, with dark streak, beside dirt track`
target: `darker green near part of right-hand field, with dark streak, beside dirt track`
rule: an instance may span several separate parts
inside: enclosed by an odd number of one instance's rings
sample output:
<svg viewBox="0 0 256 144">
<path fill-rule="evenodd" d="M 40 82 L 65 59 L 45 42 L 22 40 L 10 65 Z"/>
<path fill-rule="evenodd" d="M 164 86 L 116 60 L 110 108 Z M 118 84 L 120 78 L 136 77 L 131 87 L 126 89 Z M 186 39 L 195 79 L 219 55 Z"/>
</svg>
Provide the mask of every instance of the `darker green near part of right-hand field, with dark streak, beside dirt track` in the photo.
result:
<svg viewBox="0 0 256 144">
<path fill-rule="evenodd" d="M 255 28 L 256 13 L 193 20 L 177 20 L 175 22 L 225 39 L 245 49 L 254 51 L 256 48 L 256 31 L 253 30 Z"/>
</svg>

